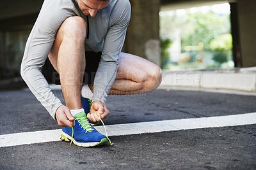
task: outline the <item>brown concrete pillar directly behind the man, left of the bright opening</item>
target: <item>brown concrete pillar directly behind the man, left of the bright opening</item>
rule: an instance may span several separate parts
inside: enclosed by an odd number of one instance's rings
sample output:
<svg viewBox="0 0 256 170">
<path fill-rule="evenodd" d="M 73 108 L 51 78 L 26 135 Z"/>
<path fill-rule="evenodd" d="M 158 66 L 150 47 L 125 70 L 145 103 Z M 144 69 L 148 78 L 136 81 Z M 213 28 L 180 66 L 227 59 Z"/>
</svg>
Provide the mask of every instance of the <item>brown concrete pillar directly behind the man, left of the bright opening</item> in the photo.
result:
<svg viewBox="0 0 256 170">
<path fill-rule="evenodd" d="M 160 65 L 159 0 L 131 0 L 132 15 L 124 51 Z"/>
</svg>

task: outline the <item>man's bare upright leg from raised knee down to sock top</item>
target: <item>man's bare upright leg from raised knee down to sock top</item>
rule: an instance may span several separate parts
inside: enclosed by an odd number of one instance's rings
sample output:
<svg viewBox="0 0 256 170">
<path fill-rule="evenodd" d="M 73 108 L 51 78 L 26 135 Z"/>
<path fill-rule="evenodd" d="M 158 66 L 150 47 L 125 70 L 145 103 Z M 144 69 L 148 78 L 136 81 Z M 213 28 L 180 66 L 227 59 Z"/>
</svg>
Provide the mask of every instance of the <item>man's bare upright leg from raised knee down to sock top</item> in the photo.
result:
<svg viewBox="0 0 256 170">
<path fill-rule="evenodd" d="M 61 89 L 70 110 L 82 108 L 81 87 L 85 69 L 86 23 L 81 17 L 67 18 L 56 34 L 49 53 L 52 66 L 60 74 Z"/>
</svg>

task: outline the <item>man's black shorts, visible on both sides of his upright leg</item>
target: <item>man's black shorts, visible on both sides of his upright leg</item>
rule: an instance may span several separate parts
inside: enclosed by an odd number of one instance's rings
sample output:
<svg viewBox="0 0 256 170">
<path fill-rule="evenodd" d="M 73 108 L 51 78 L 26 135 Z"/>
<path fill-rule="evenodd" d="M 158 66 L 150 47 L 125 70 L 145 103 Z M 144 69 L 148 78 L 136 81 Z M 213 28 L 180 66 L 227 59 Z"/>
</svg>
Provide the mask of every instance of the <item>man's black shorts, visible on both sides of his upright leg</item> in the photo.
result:
<svg viewBox="0 0 256 170">
<path fill-rule="evenodd" d="M 93 84 L 95 74 L 99 66 L 101 54 L 101 52 L 85 52 L 86 67 L 83 83 Z M 60 85 L 60 74 L 54 69 L 48 57 L 45 60 L 44 66 L 42 67 L 42 74 L 48 83 Z"/>
</svg>

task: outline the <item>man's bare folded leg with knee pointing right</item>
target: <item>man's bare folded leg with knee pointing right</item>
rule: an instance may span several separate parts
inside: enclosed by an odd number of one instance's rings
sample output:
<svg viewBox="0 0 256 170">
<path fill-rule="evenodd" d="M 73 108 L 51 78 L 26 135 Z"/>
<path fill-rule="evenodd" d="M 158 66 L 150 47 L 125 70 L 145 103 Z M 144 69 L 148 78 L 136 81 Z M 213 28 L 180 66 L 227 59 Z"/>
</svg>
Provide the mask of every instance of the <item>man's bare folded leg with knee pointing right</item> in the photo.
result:
<svg viewBox="0 0 256 170">
<path fill-rule="evenodd" d="M 161 68 L 136 55 L 120 53 L 119 64 L 109 94 L 138 94 L 156 89 L 162 80 Z M 93 85 L 90 85 L 93 91 Z"/>
</svg>

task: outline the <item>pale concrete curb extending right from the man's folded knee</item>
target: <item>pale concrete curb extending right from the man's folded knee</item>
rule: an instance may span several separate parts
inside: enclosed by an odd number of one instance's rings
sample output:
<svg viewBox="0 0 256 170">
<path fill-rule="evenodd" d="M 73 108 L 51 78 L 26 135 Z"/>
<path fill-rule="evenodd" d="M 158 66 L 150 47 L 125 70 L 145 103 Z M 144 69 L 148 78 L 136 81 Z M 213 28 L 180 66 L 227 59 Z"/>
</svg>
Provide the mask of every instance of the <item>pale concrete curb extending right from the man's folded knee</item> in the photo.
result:
<svg viewBox="0 0 256 170">
<path fill-rule="evenodd" d="M 233 70 L 163 70 L 161 86 L 256 92 L 256 67 Z"/>
</svg>

